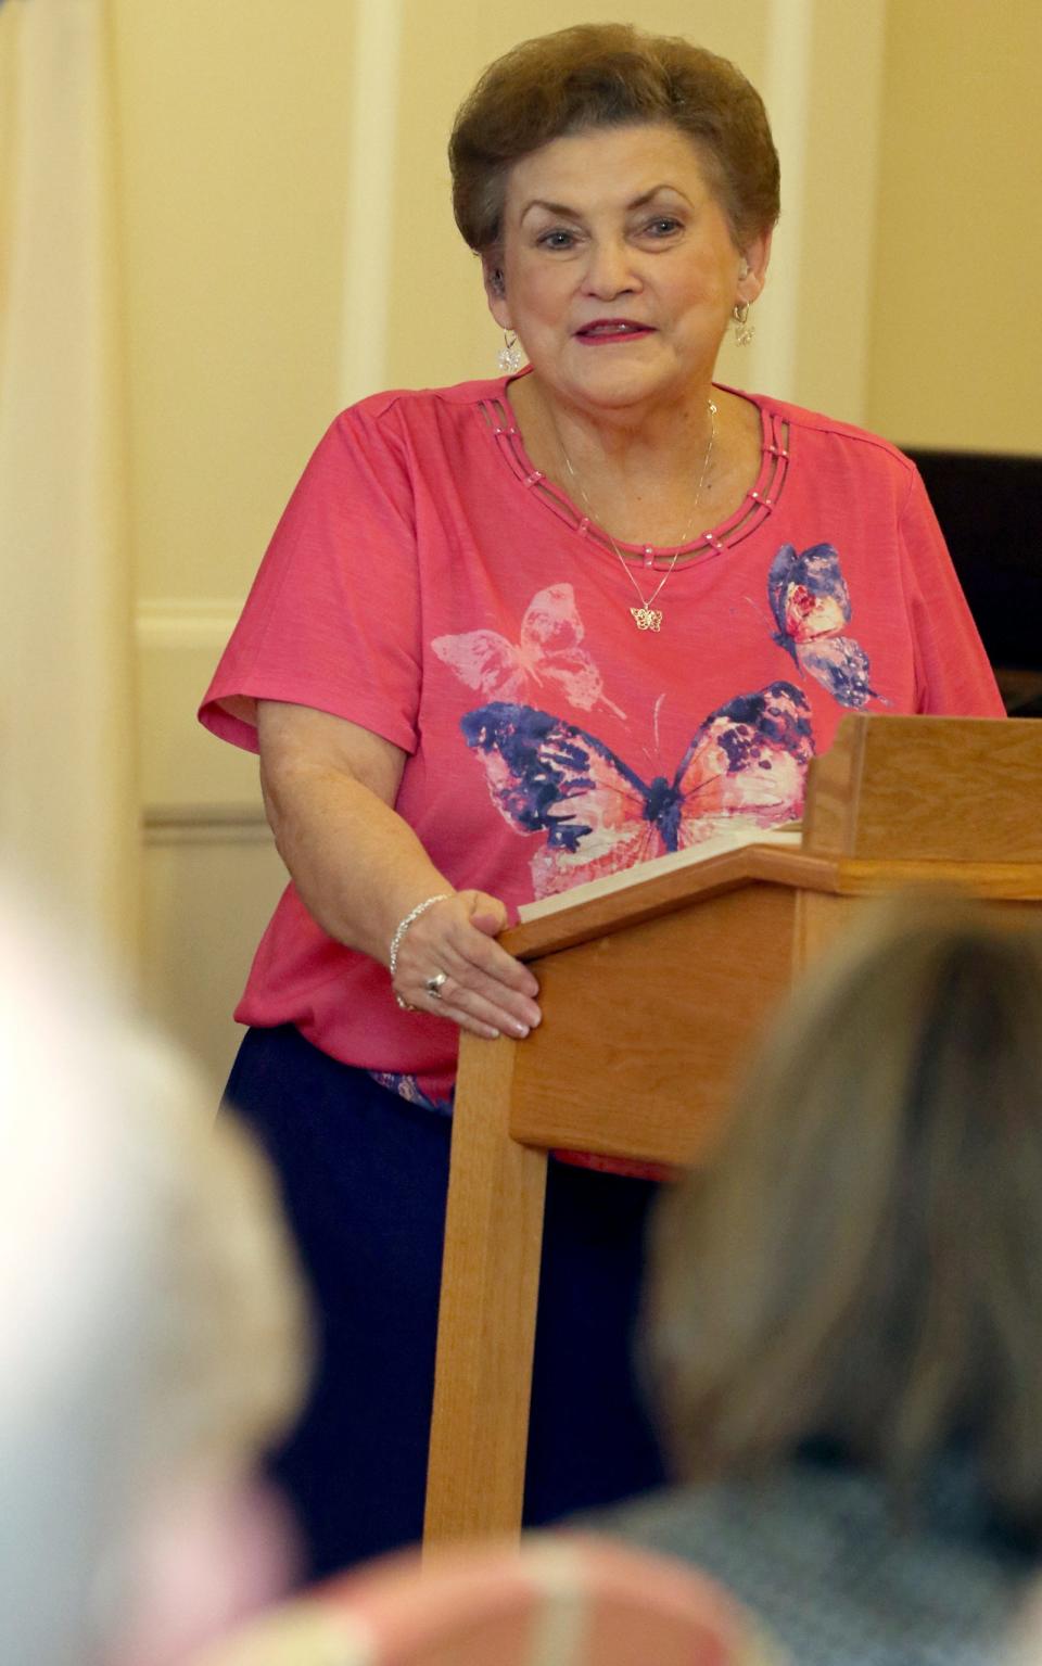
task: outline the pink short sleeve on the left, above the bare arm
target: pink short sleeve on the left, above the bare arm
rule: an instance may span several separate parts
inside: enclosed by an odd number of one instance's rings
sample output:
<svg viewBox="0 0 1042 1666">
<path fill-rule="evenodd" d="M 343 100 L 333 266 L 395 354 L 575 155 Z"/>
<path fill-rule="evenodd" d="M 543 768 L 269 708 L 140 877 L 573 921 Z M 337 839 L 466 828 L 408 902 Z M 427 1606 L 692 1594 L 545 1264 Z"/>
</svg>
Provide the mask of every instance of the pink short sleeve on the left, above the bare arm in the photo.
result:
<svg viewBox="0 0 1042 1666">
<path fill-rule="evenodd" d="M 420 596 L 412 480 L 387 405 L 343 412 L 268 545 L 200 706 L 257 750 L 257 701 L 315 706 L 415 751 Z"/>
</svg>

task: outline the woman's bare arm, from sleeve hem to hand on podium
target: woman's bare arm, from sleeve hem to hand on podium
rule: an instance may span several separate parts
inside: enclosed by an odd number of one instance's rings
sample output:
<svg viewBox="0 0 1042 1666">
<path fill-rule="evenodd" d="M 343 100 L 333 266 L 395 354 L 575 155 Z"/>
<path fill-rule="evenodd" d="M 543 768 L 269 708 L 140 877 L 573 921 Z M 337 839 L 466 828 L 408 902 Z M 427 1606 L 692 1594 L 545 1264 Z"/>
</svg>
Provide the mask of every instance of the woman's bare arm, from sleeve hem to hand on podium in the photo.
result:
<svg viewBox="0 0 1042 1666">
<path fill-rule="evenodd" d="M 392 810 L 405 753 L 358 723 L 273 700 L 257 703 L 257 735 L 275 843 L 318 925 L 387 966 L 398 921 L 447 891 L 402 938 L 397 993 L 472 1035 L 527 1035 L 539 985 L 493 941 L 503 903 L 455 891 Z M 448 973 L 440 1000 L 425 988 L 437 971 Z"/>
</svg>

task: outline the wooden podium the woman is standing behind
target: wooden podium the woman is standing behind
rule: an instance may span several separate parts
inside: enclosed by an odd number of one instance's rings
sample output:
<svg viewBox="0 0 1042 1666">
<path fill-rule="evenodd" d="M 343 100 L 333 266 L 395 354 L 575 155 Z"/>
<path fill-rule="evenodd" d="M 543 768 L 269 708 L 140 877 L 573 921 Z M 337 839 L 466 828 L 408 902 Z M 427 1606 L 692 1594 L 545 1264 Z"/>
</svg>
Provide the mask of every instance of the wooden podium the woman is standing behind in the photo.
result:
<svg viewBox="0 0 1042 1666">
<path fill-rule="evenodd" d="M 1037 915 L 1042 723 L 847 716 L 800 848 L 637 876 L 503 935 L 544 1021 L 460 1046 L 427 1544 L 520 1526 L 547 1151 L 704 1161 L 794 978 L 865 896 L 915 885 Z"/>
</svg>

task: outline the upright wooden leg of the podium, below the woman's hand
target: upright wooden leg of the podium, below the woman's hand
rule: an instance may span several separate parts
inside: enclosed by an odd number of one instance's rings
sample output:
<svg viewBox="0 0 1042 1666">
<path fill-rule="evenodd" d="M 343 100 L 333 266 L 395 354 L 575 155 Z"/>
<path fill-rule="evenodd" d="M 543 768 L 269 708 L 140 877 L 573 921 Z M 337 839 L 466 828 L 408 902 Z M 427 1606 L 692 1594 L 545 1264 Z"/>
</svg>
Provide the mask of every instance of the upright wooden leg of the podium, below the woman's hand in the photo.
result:
<svg viewBox="0 0 1042 1666">
<path fill-rule="evenodd" d="M 547 1155 L 507 1135 L 518 1043 L 463 1036 L 423 1543 L 520 1523 Z"/>
</svg>

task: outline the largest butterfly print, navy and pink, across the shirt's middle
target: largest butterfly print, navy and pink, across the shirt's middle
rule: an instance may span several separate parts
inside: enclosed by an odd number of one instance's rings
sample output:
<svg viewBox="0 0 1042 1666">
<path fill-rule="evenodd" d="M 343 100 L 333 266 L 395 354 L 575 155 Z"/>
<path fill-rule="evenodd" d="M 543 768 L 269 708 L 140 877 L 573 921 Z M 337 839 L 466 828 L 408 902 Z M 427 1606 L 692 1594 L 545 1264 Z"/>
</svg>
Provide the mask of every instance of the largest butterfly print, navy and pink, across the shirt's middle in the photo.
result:
<svg viewBox="0 0 1042 1666">
<path fill-rule="evenodd" d="M 697 845 L 729 826 L 800 815 L 814 755 L 810 708 L 792 683 L 719 706 L 695 731 L 672 781 L 642 781 L 604 741 L 534 706 L 493 701 L 460 726 L 500 815 L 544 835 L 535 896 Z"/>
</svg>

